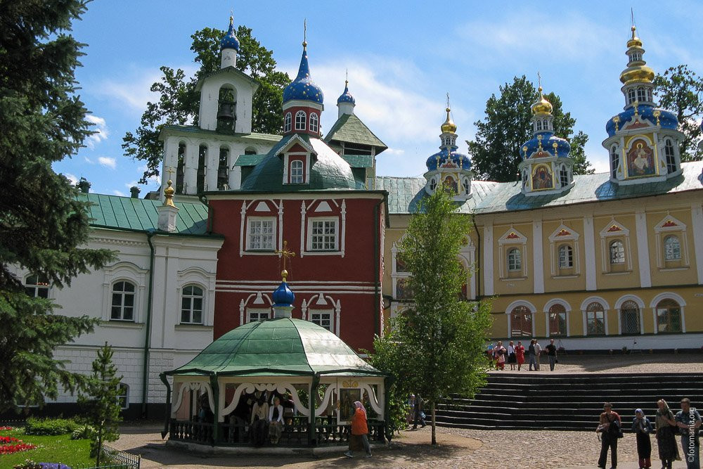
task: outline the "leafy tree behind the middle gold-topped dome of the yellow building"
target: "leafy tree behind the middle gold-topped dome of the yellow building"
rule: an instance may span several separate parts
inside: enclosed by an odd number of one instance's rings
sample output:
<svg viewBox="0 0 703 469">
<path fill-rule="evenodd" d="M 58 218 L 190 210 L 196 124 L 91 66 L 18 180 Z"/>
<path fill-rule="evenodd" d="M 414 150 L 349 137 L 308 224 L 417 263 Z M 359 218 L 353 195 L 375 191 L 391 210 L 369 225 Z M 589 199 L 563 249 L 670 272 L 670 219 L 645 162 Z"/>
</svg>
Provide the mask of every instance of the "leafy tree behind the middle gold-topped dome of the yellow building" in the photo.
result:
<svg viewBox="0 0 703 469">
<path fill-rule="evenodd" d="M 476 179 L 515 181 L 520 163 L 520 146 L 532 138 L 531 105 L 538 97 L 534 84 L 524 75 L 500 87 L 500 96 L 492 94 L 486 101 L 486 117 L 474 124 L 476 139 L 467 141 Z M 574 136 L 576 120 L 562 109 L 562 100 L 554 93 L 544 97 L 552 103 L 554 133 L 571 143 L 576 156 L 574 174 L 592 174 L 583 146 L 588 136 L 579 131 Z"/>
</svg>

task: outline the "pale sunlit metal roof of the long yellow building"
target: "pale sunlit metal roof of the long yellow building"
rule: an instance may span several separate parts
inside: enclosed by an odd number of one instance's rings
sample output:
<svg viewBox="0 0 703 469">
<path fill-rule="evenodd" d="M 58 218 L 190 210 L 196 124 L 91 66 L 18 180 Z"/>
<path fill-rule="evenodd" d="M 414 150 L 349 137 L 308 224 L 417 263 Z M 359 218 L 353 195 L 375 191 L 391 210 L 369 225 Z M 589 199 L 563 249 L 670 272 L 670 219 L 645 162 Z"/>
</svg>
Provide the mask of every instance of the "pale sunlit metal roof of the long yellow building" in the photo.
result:
<svg viewBox="0 0 703 469">
<path fill-rule="evenodd" d="M 472 181 L 472 198 L 461 205 L 460 212 L 476 214 L 534 210 L 579 203 L 622 200 L 703 189 L 703 162 L 682 163 L 683 174 L 668 181 L 621 185 L 610 182 L 610 173 L 574 176 L 574 186 L 561 194 L 524 195 L 520 182 Z M 425 178 L 376 178 L 376 188 L 388 191 L 388 210 L 391 214 L 407 214 L 416 210 L 425 196 Z"/>
</svg>

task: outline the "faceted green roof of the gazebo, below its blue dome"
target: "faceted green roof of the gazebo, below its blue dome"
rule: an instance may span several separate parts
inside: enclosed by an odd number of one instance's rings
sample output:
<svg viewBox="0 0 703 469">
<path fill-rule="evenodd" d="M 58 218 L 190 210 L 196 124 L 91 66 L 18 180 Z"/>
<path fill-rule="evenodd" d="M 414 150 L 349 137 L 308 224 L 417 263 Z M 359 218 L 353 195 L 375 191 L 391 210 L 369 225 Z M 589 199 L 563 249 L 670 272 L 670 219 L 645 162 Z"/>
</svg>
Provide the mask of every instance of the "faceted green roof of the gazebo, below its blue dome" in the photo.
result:
<svg viewBox="0 0 703 469">
<path fill-rule="evenodd" d="M 270 319 L 230 330 L 167 375 L 383 375 L 329 330 L 302 319 Z"/>
</svg>

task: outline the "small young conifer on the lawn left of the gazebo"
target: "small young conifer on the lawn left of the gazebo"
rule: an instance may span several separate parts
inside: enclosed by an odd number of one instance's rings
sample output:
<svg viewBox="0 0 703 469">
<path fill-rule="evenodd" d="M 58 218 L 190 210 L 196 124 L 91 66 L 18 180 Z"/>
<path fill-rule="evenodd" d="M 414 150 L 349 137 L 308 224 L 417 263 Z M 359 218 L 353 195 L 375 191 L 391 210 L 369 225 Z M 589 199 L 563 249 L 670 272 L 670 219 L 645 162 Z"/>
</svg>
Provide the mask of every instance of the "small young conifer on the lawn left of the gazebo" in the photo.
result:
<svg viewBox="0 0 703 469">
<path fill-rule="evenodd" d="M 120 380 L 122 376 L 117 376 L 117 367 L 112 364 L 112 347 L 105 342 L 93 361 L 93 374 L 87 380 L 85 394 L 79 394 L 77 399 L 86 420 L 95 429 L 90 448 L 98 466 L 103 442 L 114 442 L 120 437 Z"/>
</svg>

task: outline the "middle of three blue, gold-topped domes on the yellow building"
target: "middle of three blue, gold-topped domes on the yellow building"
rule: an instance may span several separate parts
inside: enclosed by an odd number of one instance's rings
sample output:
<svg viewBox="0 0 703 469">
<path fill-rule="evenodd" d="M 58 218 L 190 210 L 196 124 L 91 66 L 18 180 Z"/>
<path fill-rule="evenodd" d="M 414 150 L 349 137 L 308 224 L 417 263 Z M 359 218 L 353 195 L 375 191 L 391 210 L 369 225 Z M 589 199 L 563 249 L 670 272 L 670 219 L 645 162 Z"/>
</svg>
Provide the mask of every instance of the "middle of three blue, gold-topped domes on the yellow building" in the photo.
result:
<svg viewBox="0 0 703 469">
<path fill-rule="evenodd" d="M 533 136 L 520 147 L 520 156 L 523 160 L 549 156 L 567 158 L 571 145 L 554 135 L 552 103 L 542 94 L 542 86 L 539 86 L 538 91 L 539 98 L 532 105 Z"/>
</svg>

